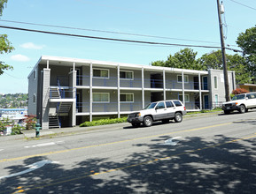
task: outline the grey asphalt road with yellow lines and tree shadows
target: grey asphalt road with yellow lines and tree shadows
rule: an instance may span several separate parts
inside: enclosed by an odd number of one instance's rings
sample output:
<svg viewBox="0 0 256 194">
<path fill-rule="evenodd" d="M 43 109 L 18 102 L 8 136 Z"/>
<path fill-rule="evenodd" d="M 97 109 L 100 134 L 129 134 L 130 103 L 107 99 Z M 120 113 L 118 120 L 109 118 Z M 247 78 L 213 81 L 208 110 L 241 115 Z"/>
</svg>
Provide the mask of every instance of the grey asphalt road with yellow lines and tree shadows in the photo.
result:
<svg viewBox="0 0 256 194">
<path fill-rule="evenodd" d="M 0 193 L 255 193 L 256 111 L 0 142 L 0 169 Z"/>
</svg>

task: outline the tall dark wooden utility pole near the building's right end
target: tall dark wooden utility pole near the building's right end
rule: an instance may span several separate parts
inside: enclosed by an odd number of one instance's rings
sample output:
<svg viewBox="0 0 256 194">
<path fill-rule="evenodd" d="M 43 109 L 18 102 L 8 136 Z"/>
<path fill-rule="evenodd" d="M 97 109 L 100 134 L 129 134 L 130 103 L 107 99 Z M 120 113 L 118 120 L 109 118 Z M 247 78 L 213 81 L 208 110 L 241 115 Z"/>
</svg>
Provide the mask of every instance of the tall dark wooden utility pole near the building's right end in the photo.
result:
<svg viewBox="0 0 256 194">
<path fill-rule="evenodd" d="M 228 68 L 227 68 L 227 62 L 226 62 L 225 42 L 223 38 L 223 29 L 222 29 L 222 21 L 221 21 L 221 14 L 223 12 L 221 13 L 221 5 L 219 0 L 217 0 L 217 5 L 218 5 L 218 16 L 219 16 L 219 25 L 220 25 L 220 34 L 221 34 L 221 52 L 222 52 L 222 63 L 223 63 L 223 73 L 224 73 L 225 98 L 226 98 L 226 101 L 230 101 Z"/>
</svg>

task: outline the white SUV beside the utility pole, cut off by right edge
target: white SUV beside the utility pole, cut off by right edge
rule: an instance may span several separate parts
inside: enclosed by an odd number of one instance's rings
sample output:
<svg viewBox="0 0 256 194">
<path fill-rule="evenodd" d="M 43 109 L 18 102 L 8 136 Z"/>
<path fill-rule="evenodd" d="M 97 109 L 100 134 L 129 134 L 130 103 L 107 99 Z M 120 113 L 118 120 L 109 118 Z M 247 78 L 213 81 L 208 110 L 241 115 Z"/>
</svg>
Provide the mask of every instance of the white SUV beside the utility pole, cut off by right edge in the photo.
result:
<svg viewBox="0 0 256 194">
<path fill-rule="evenodd" d="M 232 98 L 232 101 L 222 104 L 222 110 L 225 114 L 230 114 L 234 110 L 245 113 L 251 108 L 256 108 L 256 93 L 237 94 Z"/>
</svg>

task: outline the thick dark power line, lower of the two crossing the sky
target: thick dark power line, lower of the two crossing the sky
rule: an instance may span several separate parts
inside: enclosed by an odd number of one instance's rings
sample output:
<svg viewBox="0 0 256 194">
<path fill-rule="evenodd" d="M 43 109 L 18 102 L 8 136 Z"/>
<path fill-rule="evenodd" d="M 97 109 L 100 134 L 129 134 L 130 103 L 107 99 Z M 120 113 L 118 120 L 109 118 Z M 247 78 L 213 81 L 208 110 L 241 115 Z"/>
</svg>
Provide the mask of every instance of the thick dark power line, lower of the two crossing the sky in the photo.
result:
<svg viewBox="0 0 256 194">
<path fill-rule="evenodd" d="M 80 35 L 80 34 L 64 34 L 64 33 L 56 33 L 50 31 L 42 31 L 42 30 L 34 30 L 34 29 L 27 29 L 27 28 L 20 28 L 20 27 L 12 27 L 12 26 L 0 26 L 2 28 L 12 29 L 12 30 L 20 30 L 20 31 L 27 31 L 33 33 L 42 33 L 42 34 L 56 34 L 56 35 L 65 35 L 65 36 L 73 36 L 73 37 L 80 37 L 80 38 L 87 38 L 87 39 L 96 39 L 96 40 L 105 40 L 105 41 L 122 41 L 122 42 L 131 42 L 131 43 L 141 43 L 141 44 L 150 44 L 150 45 L 165 45 L 165 46 L 178 46 L 178 47 L 195 47 L 195 48 L 218 48 L 221 47 L 213 47 L 213 46 L 205 46 L 205 45 L 190 45 L 190 44 L 173 44 L 167 42 L 156 42 L 156 41 L 134 41 L 134 40 L 127 40 L 127 39 L 114 39 L 114 38 L 105 38 L 100 36 L 88 36 L 88 35 Z M 236 52 L 240 52 L 237 49 L 227 48 L 229 50 L 233 50 Z"/>
</svg>

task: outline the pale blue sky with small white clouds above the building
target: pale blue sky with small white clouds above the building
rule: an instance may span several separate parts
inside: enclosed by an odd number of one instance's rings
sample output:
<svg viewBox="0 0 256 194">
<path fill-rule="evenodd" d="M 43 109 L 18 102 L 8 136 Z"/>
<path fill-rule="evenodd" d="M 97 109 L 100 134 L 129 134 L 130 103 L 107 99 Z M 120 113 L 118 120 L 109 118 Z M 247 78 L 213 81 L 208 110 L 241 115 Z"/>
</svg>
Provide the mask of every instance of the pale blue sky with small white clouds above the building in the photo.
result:
<svg viewBox="0 0 256 194">
<path fill-rule="evenodd" d="M 220 0 L 221 2 L 221 0 Z M 223 0 L 225 43 L 255 26 L 255 0 Z M 220 47 L 217 0 L 8 0 L 0 26 L 132 41 Z M 0 93 L 27 93 L 27 76 L 41 56 L 150 65 L 185 46 L 162 46 L 41 34 L 0 27 L 15 50 L 0 55 L 13 71 L 0 75 Z M 198 58 L 216 48 L 191 47 Z M 234 55 L 233 51 L 227 51 Z"/>
</svg>

